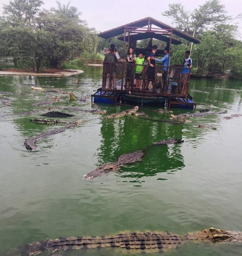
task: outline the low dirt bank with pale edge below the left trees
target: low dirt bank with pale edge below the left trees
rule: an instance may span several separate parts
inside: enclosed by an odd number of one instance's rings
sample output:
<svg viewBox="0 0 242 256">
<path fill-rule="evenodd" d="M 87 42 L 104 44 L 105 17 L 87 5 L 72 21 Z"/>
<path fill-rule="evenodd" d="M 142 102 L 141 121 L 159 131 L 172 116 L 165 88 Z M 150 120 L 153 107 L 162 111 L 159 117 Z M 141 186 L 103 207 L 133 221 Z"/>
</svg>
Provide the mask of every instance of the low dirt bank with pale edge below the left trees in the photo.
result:
<svg viewBox="0 0 242 256">
<path fill-rule="evenodd" d="M 29 69 L 16 69 L 16 68 L 5 68 L 3 71 L 0 71 L 0 75 L 32 75 L 32 76 L 54 76 L 54 77 L 63 77 L 69 75 L 82 74 L 82 70 L 57 70 L 54 68 L 43 70 L 42 73 L 34 72 Z"/>
</svg>

